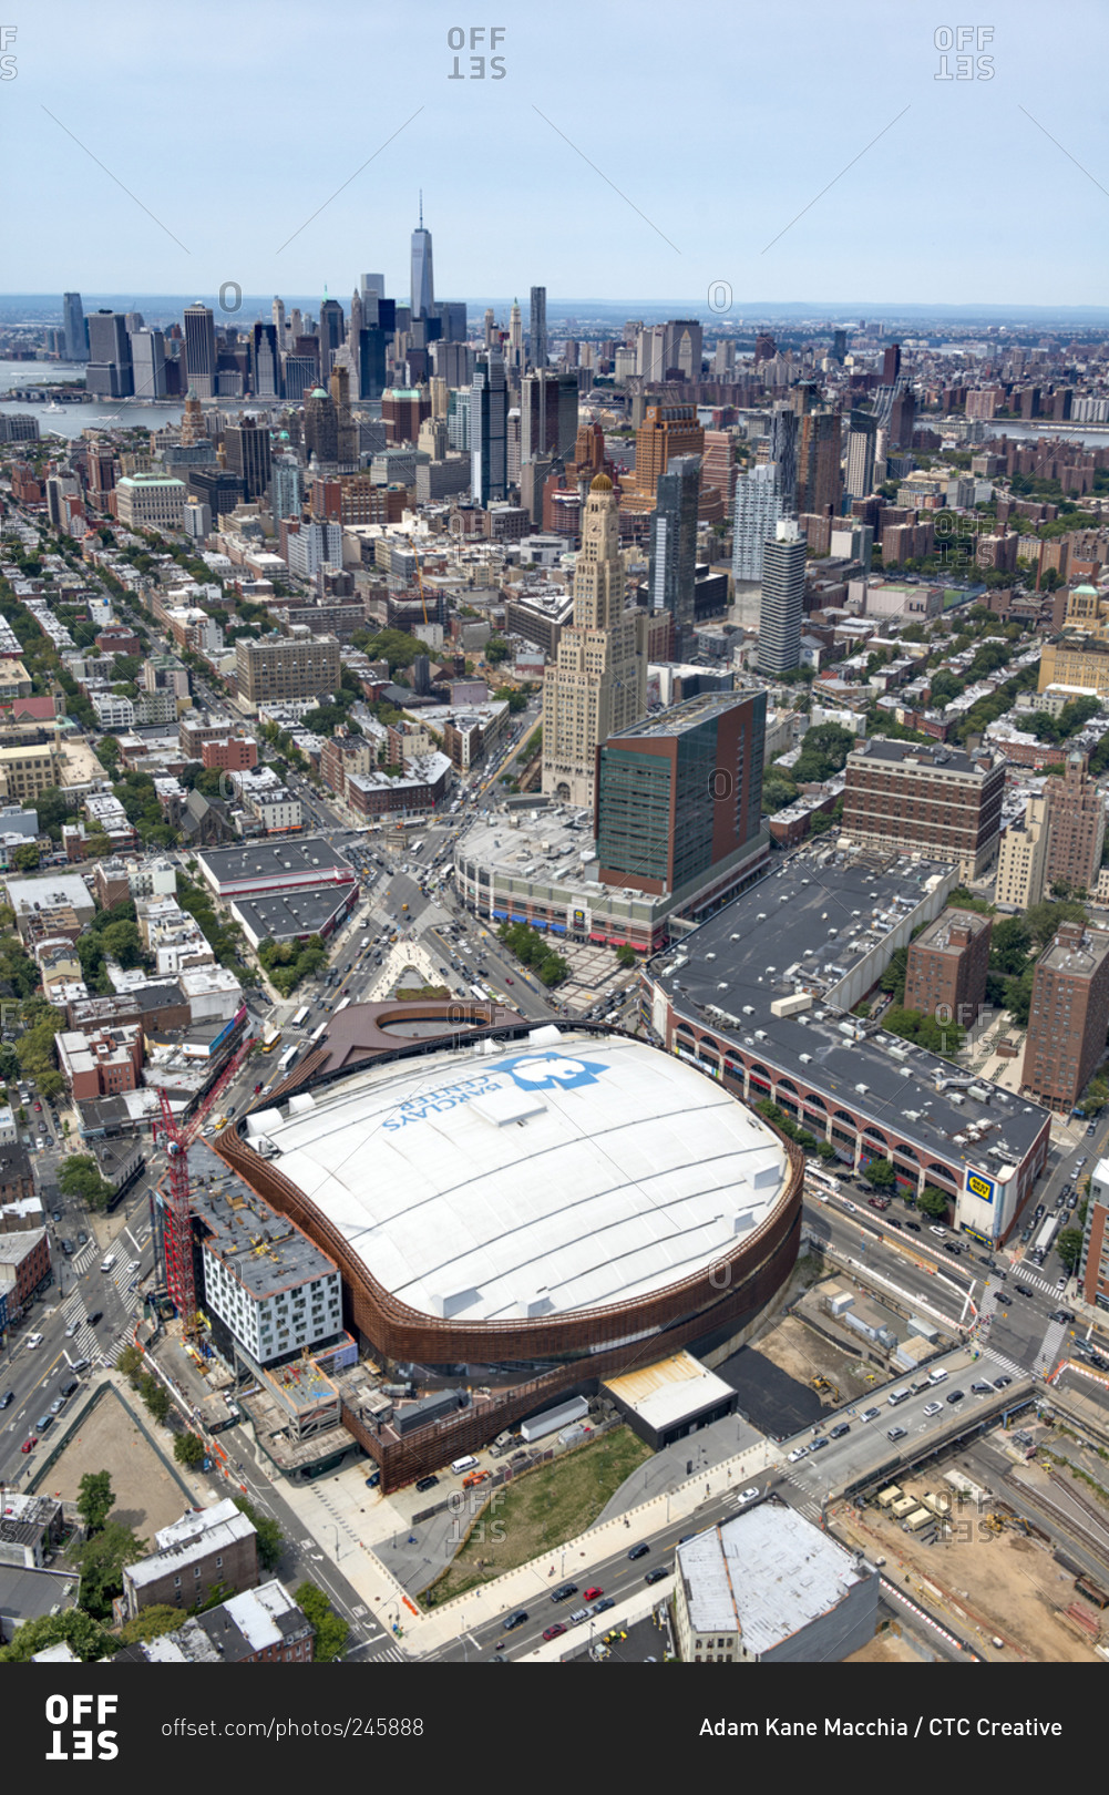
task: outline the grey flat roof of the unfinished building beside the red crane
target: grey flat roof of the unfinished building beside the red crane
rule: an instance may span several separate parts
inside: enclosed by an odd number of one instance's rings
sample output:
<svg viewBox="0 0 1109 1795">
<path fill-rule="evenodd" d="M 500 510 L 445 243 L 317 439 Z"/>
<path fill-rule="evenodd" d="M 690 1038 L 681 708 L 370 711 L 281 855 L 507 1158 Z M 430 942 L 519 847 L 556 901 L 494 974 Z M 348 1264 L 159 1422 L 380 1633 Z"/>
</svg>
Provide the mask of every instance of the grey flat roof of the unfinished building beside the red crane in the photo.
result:
<svg viewBox="0 0 1109 1795">
<path fill-rule="evenodd" d="M 242 1183 L 206 1142 L 188 1149 L 192 1213 L 215 1253 L 244 1291 L 260 1301 L 336 1271 L 330 1258 L 287 1217 Z"/>
</svg>

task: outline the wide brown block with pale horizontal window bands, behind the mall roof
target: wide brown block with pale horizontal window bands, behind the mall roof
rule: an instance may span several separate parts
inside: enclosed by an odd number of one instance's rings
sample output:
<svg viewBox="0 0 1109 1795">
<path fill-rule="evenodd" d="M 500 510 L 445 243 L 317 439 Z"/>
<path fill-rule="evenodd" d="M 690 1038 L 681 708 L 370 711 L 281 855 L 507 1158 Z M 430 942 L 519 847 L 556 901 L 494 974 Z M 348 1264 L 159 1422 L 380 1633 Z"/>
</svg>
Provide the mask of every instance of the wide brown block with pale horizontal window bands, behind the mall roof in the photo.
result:
<svg viewBox="0 0 1109 1795">
<path fill-rule="evenodd" d="M 964 883 L 998 858 L 1001 756 L 874 736 L 851 750 L 845 775 L 840 833 L 860 847 L 953 860 Z"/>
</svg>

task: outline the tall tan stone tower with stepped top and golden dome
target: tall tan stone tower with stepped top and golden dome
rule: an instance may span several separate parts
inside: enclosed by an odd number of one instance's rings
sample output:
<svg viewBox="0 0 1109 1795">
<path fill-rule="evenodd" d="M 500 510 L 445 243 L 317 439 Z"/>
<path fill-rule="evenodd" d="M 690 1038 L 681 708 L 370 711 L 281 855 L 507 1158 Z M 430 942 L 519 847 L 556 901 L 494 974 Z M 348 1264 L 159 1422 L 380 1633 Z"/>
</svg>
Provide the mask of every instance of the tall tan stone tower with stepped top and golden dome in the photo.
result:
<svg viewBox="0 0 1109 1795">
<path fill-rule="evenodd" d="M 574 621 L 558 637 L 544 680 L 542 790 L 592 804 L 598 747 L 646 714 L 646 616 L 624 610 L 619 508 L 598 474 L 581 519 Z"/>
</svg>

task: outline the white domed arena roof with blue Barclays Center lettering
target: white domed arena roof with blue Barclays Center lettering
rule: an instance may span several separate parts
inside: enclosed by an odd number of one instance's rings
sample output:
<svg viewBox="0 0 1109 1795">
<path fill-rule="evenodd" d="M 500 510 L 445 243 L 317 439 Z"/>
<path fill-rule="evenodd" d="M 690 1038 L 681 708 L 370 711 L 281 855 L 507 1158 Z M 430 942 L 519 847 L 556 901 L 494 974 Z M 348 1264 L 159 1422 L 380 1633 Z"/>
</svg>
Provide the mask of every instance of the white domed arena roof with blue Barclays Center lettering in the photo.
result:
<svg viewBox="0 0 1109 1795">
<path fill-rule="evenodd" d="M 626 1303 L 734 1253 L 788 1161 L 677 1057 L 533 1029 L 354 1073 L 248 1140 L 420 1314 L 506 1321 Z"/>
</svg>

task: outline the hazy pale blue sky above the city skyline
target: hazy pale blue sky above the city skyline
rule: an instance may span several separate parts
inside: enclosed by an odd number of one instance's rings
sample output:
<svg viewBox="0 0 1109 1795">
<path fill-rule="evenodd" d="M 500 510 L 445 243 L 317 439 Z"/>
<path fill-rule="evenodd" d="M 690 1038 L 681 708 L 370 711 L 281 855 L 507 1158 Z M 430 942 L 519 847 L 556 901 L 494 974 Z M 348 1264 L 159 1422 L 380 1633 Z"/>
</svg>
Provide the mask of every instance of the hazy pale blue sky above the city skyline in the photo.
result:
<svg viewBox="0 0 1109 1795">
<path fill-rule="evenodd" d="M 345 300 L 380 269 L 402 294 L 420 187 L 440 298 L 526 302 L 533 282 L 702 311 L 711 282 L 736 309 L 1109 293 L 1104 0 L 36 0 L 4 16 L 7 293 L 214 302 L 226 280 L 327 282 Z M 971 45 L 992 79 L 937 79 L 937 31 L 960 18 L 992 22 Z M 493 23 L 504 79 L 449 79 L 449 29 Z"/>
</svg>

